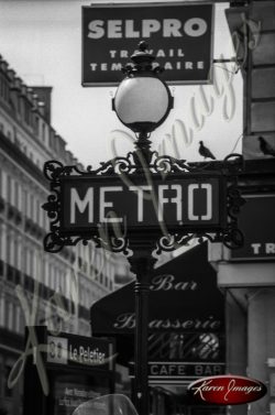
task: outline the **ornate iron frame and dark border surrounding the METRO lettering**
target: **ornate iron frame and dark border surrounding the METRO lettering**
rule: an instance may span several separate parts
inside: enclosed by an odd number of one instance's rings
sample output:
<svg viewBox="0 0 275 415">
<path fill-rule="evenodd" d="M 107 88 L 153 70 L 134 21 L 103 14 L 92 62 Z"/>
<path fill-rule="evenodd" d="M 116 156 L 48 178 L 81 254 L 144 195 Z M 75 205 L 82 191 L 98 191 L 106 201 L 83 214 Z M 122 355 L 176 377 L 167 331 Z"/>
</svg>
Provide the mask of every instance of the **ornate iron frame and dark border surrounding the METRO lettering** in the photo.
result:
<svg viewBox="0 0 275 415">
<path fill-rule="evenodd" d="M 144 141 L 144 148 L 142 143 Z M 98 248 L 113 252 L 123 252 L 132 245 L 141 247 L 143 240 L 150 239 L 151 245 L 161 251 L 172 251 L 190 239 L 197 237 L 201 241 L 208 238 L 212 242 L 222 242 L 230 249 L 239 248 L 243 243 L 243 236 L 238 229 L 237 216 L 244 203 L 238 189 L 238 174 L 242 171 L 243 160 L 239 154 L 231 154 L 222 162 L 217 163 L 217 170 L 209 171 L 209 163 L 188 164 L 185 160 L 176 160 L 168 155 L 160 156 L 157 152 L 148 150 L 148 140 L 140 139 L 135 144 L 138 150 L 125 157 L 116 157 L 100 167 L 86 171 L 77 165 L 64 166 L 58 161 L 48 161 L 44 166 L 44 174 L 50 181 L 51 194 L 47 203 L 43 205 L 50 218 L 50 233 L 44 239 L 44 249 L 47 252 L 58 252 L 65 245 L 76 245 L 79 241 L 87 244 L 94 240 Z M 215 163 L 211 163 L 211 166 Z M 105 181 L 109 185 L 119 181 L 138 181 L 138 183 L 152 183 L 164 179 L 185 181 L 217 178 L 219 183 L 219 220 L 215 225 L 191 226 L 160 226 L 132 227 L 116 229 L 113 226 L 97 223 L 97 226 L 69 229 L 64 227 L 64 184 L 69 181 L 88 181 L 90 184 Z M 122 182 L 121 182 L 122 183 Z M 141 234 L 146 230 L 146 236 Z"/>
</svg>

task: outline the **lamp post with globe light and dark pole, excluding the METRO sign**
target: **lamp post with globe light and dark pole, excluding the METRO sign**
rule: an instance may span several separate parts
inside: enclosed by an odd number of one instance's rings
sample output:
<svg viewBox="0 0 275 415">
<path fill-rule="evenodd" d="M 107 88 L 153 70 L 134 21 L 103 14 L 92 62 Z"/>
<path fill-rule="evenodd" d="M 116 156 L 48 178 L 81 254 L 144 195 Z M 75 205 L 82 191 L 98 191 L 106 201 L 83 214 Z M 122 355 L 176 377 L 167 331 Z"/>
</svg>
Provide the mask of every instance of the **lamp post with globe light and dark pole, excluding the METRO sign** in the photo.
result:
<svg viewBox="0 0 275 415">
<path fill-rule="evenodd" d="M 131 56 L 134 65 L 127 65 L 125 78 L 117 89 L 112 108 L 120 121 L 136 135 L 135 164 L 138 173 L 146 175 L 152 152 L 148 136 L 161 125 L 170 109 L 173 97 L 167 85 L 158 77 L 160 66 L 153 66 L 155 56 L 148 53 L 147 44 L 140 42 L 139 51 Z M 148 281 L 154 262 L 153 244 L 144 236 L 135 238 L 134 254 L 129 259 L 135 281 L 135 347 L 134 347 L 134 403 L 139 415 L 148 414 L 147 382 L 147 325 L 148 325 Z"/>
</svg>

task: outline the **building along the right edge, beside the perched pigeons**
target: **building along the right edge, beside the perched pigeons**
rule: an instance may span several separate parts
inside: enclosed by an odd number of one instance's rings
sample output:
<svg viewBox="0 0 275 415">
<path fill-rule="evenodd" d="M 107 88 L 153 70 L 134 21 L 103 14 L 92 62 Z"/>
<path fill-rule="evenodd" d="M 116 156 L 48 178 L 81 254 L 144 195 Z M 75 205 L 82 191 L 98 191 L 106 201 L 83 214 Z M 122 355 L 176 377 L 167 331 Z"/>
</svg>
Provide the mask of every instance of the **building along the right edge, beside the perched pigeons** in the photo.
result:
<svg viewBox="0 0 275 415">
<path fill-rule="evenodd" d="M 266 395 L 230 415 L 275 414 L 275 2 L 231 2 L 227 18 L 244 79 L 239 187 L 240 253 L 212 244 L 210 261 L 227 297 L 227 372 L 261 380 Z M 242 219 L 243 217 L 243 219 Z"/>
</svg>

